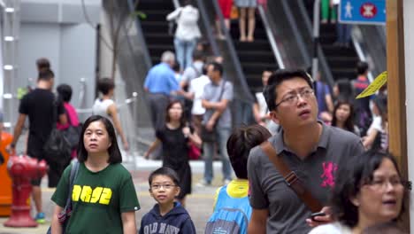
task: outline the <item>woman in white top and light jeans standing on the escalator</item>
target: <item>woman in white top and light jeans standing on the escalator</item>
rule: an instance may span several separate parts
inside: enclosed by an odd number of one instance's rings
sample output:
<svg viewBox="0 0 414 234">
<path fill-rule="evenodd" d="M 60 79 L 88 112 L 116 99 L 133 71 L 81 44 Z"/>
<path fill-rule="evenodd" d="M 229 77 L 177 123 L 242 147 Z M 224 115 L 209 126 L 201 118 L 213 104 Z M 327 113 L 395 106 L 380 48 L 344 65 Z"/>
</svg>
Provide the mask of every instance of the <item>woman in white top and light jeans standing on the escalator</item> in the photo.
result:
<svg viewBox="0 0 414 234">
<path fill-rule="evenodd" d="M 177 8 L 166 16 L 166 20 L 177 22 L 174 47 L 181 70 L 193 63 L 193 51 L 196 49 L 197 39 L 201 37 L 200 28 L 197 24 L 200 13 L 196 7 L 191 5 L 190 0 L 186 0 L 183 5 L 183 7 Z"/>
</svg>

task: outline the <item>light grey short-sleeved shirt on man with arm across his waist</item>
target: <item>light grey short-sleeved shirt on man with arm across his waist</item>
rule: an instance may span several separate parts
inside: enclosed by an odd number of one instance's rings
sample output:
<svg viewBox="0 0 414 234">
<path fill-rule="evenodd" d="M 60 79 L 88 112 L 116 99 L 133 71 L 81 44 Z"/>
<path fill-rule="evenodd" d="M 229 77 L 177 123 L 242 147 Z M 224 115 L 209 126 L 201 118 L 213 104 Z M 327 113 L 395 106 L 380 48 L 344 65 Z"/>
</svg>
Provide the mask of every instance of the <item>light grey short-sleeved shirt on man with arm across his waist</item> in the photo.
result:
<svg viewBox="0 0 414 234">
<path fill-rule="evenodd" d="M 223 85 L 223 82 L 226 82 Z M 224 87 L 223 95 L 220 99 L 221 90 Z M 204 86 L 202 99 L 209 102 L 219 102 L 220 100 L 226 99 L 229 104 L 233 100 L 233 84 L 232 82 L 221 79 L 219 84 L 210 82 Z M 206 124 L 210 120 L 212 114 L 216 109 L 206 109 L 203 115 L 203 124 Z M 221 113 L 219 121 L 216 123 L 218 128 L 231 128 L 232 127 L 232 113 L 230 112 L 230 105 L 227 105 L 226 110 Z"/>
</svg>

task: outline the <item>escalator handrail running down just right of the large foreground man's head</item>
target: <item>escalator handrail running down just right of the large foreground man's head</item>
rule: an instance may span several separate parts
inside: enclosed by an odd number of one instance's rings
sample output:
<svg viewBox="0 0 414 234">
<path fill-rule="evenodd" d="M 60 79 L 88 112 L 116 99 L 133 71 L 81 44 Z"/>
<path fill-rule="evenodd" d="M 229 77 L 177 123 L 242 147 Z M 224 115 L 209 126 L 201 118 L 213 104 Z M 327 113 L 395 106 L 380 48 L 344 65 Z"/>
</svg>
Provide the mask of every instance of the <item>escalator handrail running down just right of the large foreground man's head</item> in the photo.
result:
<svg viewBox="0 0 414 234">
<path fill-rule="evenodd" d="M 304 22 L 306 28 L 308 29 L 308 34 L 311 36 L 311 38 L 313 38 L 311 19 L 308 15 L 308 12 L 306 12 L 306 9 L 303 5 L 303 1 L 301 1 L 301 0 L 297 1 L 297 4 L 298 4 L 299 10 L 302 14 L 303 22 Z M 319 63 L 322 66 L 322 68 L 324 69 L 325 81 L 329 84 L 329 86 L 334 87 L 334 75 L 332 74 L 331 68 L 327 64 L 324 51 L 322 51 L 322 49 L 320 47 L 320 44 L 318 44 L 317 53 L 318 53 Z"/>
</svg>

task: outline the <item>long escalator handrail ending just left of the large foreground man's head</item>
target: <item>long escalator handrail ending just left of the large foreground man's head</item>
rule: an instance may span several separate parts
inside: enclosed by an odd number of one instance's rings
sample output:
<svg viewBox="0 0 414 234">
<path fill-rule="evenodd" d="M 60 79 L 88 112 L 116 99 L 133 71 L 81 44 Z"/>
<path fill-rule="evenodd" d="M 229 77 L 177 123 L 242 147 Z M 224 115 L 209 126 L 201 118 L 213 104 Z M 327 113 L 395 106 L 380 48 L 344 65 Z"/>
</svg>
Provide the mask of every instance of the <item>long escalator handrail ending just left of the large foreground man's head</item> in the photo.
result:
<svg viewBox="0 0 414 234">
<path fill-rule="evenodd" d="M 214 12 L 216 13 L 217 16 L 219 16 L 219 23 L 220 23 L 220 26 L 221 26 L 221 30 L 224 31 L 224 35 L 226 37 L 227 49 L 230 53 L 230 57 L 232 59 L 232 62 L 234 63 L 234 68 L 235 68 L 237 77 L 238 77 L 239 82 L 240 82 L 241 87 L 242 87 L 243 96 L 248 99 L 247 101 L 253 102 L 254 97 L 251 94 L 251 92 L 249 90 L 249 86 L 246 82 L 246 76 L 244 75 L 244 73 L 242 71 L 242 64 L 240 63 L 240 59 L 237 56 L 237 53 L 235 51 L 233 39 L 230 35 L 230 32 L 226 28 L 226 24 L 224 22 L 224 16 L 223 16 L 223 14 L 220 10 L 219 3 L 218 3 L 218 1 L 212 1 L 212 4 L 214 6 Z"/>
</svg>

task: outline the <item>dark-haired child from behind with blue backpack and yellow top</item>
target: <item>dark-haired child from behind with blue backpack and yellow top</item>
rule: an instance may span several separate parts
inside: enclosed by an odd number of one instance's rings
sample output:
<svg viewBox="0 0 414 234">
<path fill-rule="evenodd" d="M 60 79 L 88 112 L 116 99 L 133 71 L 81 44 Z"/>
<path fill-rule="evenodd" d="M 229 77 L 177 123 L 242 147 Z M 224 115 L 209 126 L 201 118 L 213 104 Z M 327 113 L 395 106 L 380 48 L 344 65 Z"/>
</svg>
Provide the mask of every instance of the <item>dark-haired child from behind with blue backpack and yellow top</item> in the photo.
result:
<svg viewBox="0 0 414 234">
<path fill-rule="evenodd" d="M 235 129 L 228 138 L 227 152 L 237 179 L 217 190 L 214 213 L 207 222 L 205 233 L 247 233 L 252 212 L 248 197 L 249 152 L 270 136 L 269 130 L 255 124 Z"/>
</svg>

